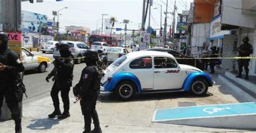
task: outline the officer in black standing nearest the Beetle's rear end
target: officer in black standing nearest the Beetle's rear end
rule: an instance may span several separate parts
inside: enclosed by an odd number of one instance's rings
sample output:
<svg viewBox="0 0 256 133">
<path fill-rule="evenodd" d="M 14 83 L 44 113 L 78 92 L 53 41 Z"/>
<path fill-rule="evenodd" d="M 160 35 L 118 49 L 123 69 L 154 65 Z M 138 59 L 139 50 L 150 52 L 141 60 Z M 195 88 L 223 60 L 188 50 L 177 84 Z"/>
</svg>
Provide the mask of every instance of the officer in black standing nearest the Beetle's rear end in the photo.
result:
<svg viewBox="0 0 256 133">
<path fill-rule="evenodd" d="M 100 91 L 100 79 L 103 77 L 102 67 L 96 50 L 88 49 L 85 52 L 86 67 L 82 71 L 79 83 L 73 88 L 74 95 L 80 100 L 82 114 L 84 115 L 84 132 L 91 132 L 91 119 L 94 129 L 92 132 L 102 132 L 99 117 L 96 111 L 96 101 Z"/>
</svg>

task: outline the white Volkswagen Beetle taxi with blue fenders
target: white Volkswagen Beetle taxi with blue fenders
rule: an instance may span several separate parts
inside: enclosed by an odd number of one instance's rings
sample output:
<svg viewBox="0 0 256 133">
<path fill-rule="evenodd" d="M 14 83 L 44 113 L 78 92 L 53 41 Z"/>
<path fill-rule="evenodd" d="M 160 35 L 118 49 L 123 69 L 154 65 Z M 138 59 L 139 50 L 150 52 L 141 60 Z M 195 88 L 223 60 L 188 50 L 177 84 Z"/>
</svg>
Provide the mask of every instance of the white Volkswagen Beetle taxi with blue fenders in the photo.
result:
<svg viewBox="0 0 256 133">
<path fill-rule="evenodd" d="M 198 68 L 178 64 L 168 53 L 136 51 L 123 55 L 104 71 L 100 91 L 131 99 L 135 93 L 188 91 L 203 95 L 213 86 L 212 77 Z"/>
</svg>

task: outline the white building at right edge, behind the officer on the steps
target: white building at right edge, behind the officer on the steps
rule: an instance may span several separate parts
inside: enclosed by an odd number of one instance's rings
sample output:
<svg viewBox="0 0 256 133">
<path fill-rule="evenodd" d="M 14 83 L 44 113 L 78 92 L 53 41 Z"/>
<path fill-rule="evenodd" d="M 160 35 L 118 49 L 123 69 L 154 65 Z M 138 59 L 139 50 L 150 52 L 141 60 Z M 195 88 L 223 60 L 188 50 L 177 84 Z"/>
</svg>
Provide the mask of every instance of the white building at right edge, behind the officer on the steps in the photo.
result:
<svg viewBox="0 0 256 133">
<path fill-rule="evenodd" d="M 230 29 L 231 35 L 224 35 L 223 53 L 236 56 L 235 50 L 248 36 L 256 56 L 256 1 L 254 0 L 223 0 L 221 6 L 221 29 Z M 240 10 L 247 9 L 247 10 Z M 223 60 L 223 68 L 237 71 L 237 62 Z M 249 75 L 256 75 L 256 60 L 251 59 Z"/>
</svg>

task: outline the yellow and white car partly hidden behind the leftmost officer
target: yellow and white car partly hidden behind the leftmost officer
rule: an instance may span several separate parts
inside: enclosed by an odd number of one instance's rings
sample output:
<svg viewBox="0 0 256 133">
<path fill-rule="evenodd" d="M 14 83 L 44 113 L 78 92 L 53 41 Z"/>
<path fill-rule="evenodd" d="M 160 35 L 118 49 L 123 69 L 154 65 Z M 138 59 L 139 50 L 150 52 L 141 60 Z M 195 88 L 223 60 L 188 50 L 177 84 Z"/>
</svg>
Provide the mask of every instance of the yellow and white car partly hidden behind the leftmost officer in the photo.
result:
<svg viewBox="0 0 256 133">
<path fill-rule="evenodd" d="M 45 72 L 51 64 L 50 58 L 36 56 L 25 48 L 22 48 L 22 62 L 25 70 L 37 69 L 38 72 Z"/>
</svg>

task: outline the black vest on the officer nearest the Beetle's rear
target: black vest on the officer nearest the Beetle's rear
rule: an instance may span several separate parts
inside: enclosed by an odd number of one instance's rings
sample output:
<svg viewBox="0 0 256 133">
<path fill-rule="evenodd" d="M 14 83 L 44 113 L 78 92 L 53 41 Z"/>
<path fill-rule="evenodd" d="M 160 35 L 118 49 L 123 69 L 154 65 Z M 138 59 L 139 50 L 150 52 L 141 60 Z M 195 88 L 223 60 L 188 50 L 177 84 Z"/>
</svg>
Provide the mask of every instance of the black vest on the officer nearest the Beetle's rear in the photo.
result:
<svg viewBox="0 0 256 133">
<path fill-rule="evenodd" d="M 102 69 L 100 69 L 98 66 L 92 66 L 95 71 L 93 74 L 93 80 L 92 80 L 92 86 L 91 89 L 92 90 L 99 90 L 100 89 L 100 80 L 102 79 L 104 72 Z"/>
</svg>

